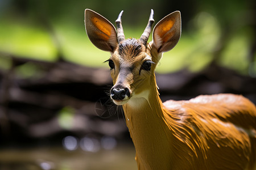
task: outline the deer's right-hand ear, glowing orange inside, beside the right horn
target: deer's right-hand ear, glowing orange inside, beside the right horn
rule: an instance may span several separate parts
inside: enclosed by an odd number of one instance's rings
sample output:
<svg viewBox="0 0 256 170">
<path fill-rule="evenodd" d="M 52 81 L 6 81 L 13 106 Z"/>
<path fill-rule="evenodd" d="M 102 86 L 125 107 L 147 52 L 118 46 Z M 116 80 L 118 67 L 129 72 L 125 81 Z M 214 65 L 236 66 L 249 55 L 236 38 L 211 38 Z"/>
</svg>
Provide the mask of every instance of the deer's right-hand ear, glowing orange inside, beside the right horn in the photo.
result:
<svg viewBox="0 0 256 170">
<path fill-rule="evenodd" d="M 177 44 L 180 35 L 180 11 L 175 11 L 164 17 L 155 25 L 153 30 L 153 46 L 159 53 L 168 52 Z"/>
</svg>

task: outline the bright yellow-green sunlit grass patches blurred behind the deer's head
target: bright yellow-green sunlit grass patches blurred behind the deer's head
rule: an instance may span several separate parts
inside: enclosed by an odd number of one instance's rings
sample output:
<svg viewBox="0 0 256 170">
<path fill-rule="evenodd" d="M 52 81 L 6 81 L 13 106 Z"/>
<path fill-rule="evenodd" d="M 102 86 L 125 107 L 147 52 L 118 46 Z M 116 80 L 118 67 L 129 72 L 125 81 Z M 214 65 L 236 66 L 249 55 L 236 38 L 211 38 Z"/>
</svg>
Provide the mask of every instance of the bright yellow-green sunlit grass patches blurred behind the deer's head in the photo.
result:
<svg viewBox="0 0 256 170">
<path fill-rule="evenodd" d="M 97 49 L 89 41 L 83 22 L 80 24 L 53 23 L 65 60 L 91 67 L 108 67 L 103 61 L 110 57 L 110 53 Z M 183 32 L 176 47 L 171 52 L 163 54 L 156 71 L 170 73 L 183 68 L 200 71 L 212 61 L 213 50 L 220 36 L 217 20 L 212 15 L 201 12 L 191 20 L 191 25 L 194 25 L 194 31 Z M 129 28 L 127 25 L 124 25 L 124 28 L 126 38 L 138 39 L 144 30 L 141 27 Z M 57 49 L 52 37 L 46 29 L 34 23 L 1 19 L 0 37 L 2 52 L 51 62 L 57 59 Z M 151 36 L 149 40 L 152 40 Z M 221 64 L 233 69 L 245 70 L 248 65 L 245 57 L 246 45 L 248 45 L 246 41 L 244 36 L 235 36 L 234 41 L 230 41 L 230 45 L 225 50 Z"/>
</svg>

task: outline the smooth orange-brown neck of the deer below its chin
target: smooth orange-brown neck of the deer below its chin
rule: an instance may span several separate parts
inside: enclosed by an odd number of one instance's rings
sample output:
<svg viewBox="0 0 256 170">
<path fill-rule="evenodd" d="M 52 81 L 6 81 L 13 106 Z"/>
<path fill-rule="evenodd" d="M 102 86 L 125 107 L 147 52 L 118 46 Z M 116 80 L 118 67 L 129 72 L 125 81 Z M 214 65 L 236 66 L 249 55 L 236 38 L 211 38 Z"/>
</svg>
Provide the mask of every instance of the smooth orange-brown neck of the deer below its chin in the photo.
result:
<svg viewBox="0 0 256 170">
<path fill-rule="evenodd" d="M 147 99 L 136 97 L 123 105 L 126 125 L 137 152 L 136 158 L 143 165 L 148 165 L 146 169 L 156 168 L 156 166 L 159 168 L 159 165 L 166 166 L 164 161 L 169 162 L 166 159 L 170 159 L 171 156 L 171 148 L 168 147 L 172 146 L 170 145 L 172 135 L 164 121 L 165 111 L 158 96 L 155 75 L 152 75 L 152 82 Z M 167 167 L 160 167 L 160 169 L 167 169 Z"/>
</svg>

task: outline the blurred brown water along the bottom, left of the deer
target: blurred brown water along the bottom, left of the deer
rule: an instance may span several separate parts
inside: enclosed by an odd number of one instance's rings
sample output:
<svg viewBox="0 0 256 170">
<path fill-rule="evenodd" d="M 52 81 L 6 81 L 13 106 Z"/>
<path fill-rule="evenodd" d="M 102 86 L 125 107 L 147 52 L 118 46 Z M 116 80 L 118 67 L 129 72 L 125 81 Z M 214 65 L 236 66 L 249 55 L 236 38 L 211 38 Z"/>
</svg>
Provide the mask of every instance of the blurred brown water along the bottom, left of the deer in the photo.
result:
<svg viewBox="0 0 256 170">
<path fill-rule="evenodd" d="M 73 140 L 73 139 L 68 139 Z M 111 139 L 108 139 L 111 140 Z M 73 148 L 72 148 L 73 149 Z M 137 169 L 135 151 L 131 145 L 96 152 L 81 148 L 31 148 L 0 150 L 1 170 L 130 170 Z"/>
</svg>

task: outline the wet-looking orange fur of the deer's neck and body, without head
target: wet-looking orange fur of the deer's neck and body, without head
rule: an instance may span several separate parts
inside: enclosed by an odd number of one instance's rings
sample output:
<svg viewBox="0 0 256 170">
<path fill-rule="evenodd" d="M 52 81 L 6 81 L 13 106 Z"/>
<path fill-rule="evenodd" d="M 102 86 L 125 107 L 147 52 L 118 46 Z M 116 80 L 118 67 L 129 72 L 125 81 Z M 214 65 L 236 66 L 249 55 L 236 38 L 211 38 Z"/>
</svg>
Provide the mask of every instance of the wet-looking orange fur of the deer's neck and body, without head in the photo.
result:
<svg viewBox="0 0 256 170">
<path fill-rule="evenodd" d="M 162 103 L 156 84 L 150 91 L 123 105 L 139 169 L 254 169 L 253 103 L 232 94 Z"/>
</svg>

